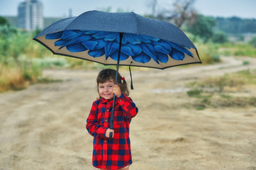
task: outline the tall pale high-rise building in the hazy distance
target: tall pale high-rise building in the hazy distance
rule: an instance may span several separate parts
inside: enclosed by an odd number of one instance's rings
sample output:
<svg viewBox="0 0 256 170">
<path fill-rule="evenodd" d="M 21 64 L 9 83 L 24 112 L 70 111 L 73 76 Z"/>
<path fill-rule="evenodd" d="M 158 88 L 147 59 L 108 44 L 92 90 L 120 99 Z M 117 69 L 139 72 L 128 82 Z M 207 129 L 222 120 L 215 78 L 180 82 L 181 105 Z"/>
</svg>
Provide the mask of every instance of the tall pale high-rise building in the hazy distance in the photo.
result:
<svg viewBox="0 0 256 170">
<path fill-rule="evenodd" d="M 26 0 L 18 5 L 18 28 L 31 31 L 43 29 L 43 4 L 38 0 Z"/>
</svg>

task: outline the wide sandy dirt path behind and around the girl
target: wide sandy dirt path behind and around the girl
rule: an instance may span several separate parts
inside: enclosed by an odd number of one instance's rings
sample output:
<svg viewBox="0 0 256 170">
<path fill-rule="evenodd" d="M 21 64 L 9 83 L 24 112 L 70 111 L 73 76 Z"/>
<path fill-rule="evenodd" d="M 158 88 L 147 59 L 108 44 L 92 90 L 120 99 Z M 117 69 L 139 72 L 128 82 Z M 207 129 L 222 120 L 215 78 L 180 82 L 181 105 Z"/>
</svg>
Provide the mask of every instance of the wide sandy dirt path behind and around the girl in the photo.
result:
<svg viewBox="0 0 256 170">
<path fill-rule="evenodd" d="M 255 68 L 255 59 L 224 57 L 210 66 L 133 71 L 130 96 L 140 113 L 131 123 L 130 169 L 256 169 L 256 108 L 185 107 L 188 82 Z M 45 70 L 63 81 L 0 94 L 0 169 L 93 169 L 85 124 L 98 72 Z"/>
</svg>

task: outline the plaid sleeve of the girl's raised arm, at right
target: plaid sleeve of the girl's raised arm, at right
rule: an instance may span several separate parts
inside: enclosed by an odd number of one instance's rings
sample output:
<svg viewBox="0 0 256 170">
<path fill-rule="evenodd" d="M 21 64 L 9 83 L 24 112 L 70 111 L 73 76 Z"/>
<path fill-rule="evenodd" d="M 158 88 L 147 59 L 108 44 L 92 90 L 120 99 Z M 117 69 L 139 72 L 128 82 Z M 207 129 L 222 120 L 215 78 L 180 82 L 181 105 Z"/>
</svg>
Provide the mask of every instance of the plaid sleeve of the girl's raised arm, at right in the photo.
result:
<svg viewBox="0 0 256 170">
<path fill-rule="evenodd" d="M 117 98 L 117 102 L 124 111 L 125 118 L 134 118 L 138 113 L 138 108 L 130 97 L 122 94 Z"/>
</svg>

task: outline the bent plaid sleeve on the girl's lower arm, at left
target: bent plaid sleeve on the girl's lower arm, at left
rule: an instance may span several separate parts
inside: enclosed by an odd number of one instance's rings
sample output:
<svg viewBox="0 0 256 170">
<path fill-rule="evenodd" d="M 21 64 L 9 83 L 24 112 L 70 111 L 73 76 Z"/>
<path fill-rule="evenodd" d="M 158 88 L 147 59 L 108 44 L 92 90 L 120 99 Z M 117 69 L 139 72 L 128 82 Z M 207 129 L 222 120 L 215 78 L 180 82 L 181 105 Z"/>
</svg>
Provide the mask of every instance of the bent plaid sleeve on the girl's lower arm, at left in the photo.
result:
<svg viewBox="0 0 256 170">
<path fill-rule="evenodd" d="M 97 115 L 99 113 L 98 110 L 99 101 L 94 101 L 94 103 L 91 106 L 91 111 L 89 113 L 89 116 L 87 118 L 87 130 L 90 135 L 93 137 L 106 137 L 106 130 L 107 128 L 102 127 L 99 122 Z"/>
</svg>

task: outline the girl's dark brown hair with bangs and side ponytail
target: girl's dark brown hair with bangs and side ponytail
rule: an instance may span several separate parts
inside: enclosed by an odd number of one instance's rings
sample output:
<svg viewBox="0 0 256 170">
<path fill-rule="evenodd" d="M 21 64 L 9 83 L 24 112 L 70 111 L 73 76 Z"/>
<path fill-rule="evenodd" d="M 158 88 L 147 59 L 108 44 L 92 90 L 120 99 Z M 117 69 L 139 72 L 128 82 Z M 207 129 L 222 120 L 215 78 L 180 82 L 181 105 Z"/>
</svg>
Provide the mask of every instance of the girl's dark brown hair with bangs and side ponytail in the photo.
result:
<svg viewBox="0 0 256 170">
<path fill-rule="evenodd" d="M 115 80 L 116 80 L 116 70 L 114 70 L 114 69 L 101 70 L 101 72 L 99 72 L 98 77 L 96 79 L 97 86 L 99 86 L 99 83 L 104 84 L 106 81 L 113 81 L 113 83 L 115 83 Z M 122 77 L 119 73 L 117 76 L 117 84 L 118 84 L 118 86 L 120 86 L 121 92 L 123 94 L 125 94 L 126 96 L 129 96 L 129 90 L 127 87 L 126 80 L 122 79 Z M 99 96 L 99 98 L 101 98 L 101 96 Z"/>
</svg>

